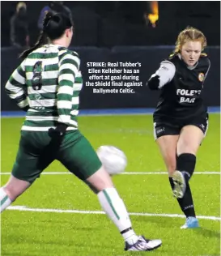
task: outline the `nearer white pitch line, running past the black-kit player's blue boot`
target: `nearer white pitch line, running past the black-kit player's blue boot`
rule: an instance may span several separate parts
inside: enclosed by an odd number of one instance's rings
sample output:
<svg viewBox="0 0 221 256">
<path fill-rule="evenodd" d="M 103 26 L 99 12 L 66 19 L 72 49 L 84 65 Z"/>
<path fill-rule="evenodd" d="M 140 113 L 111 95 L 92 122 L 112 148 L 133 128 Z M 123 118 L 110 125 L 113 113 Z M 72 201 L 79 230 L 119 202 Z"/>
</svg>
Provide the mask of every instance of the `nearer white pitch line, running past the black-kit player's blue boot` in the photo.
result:
<svg viewBox="0 0 221 256">
<path fill-rule="evenodd" d="M 29 208 L 25 206 L 11 206 L 6 210 L 12 211 L 36 211 L 36 212 L 55 212 L 55 213 L 76 213 L 76 214 L 105 214 L 104 211 L 83 211 L 83 210 L 62 210 L 62 209 L 44 209 L 44 208 Z M 142 213 L 142 212 L 130 212 L 130 215 L 134 216 L 154 216 L 154 217 L 168 217 L 168 218 L 185 218 L 185 215 L 180 214 L 157 214 L 157 213 Z M 215 216 L 197 216 L 198 219 L 203 220 L 221 220 L 220 217 Z"/>
</svg>

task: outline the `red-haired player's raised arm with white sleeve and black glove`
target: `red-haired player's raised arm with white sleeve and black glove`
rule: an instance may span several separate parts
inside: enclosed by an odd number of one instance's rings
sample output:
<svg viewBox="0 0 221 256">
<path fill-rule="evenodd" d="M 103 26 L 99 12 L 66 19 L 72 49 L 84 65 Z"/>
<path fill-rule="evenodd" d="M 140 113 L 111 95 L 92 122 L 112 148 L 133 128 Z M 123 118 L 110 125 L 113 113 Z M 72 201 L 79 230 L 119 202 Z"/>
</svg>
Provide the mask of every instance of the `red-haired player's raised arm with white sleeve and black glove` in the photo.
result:
<svg viewBox="0 0 221 256">
<path fill-rule="evenodd" d="M 159 69 L 155 71 L 155 74 L 151 75 L 147 85 L 151 90 L 158 90 L 166 83 L 169 83 L 176 72 L 176 67 L 172 62 L 164 61 L 160 63 Z"/>
</svg>

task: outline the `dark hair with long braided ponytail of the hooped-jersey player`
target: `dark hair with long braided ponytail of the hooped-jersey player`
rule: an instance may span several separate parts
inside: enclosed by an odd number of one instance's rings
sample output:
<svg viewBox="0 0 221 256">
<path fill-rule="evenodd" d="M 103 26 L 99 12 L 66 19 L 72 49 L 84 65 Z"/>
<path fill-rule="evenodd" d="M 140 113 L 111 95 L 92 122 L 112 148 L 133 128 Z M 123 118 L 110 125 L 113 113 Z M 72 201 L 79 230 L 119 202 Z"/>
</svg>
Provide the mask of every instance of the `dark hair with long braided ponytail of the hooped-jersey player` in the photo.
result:
<svg viewBox="0 0 221 256">
<path fill-rule="evenodd" d="M 43 31 L 40 33 L 38 41 L 36 41 L 36 44 L 32 48 L 23 51 L 23 53 L 19 55 L 19 58 L 27 58 L 28 54 L 40 48 L 40 46 L 47 44 L 49 39 L 53 41 L 61 37 L 66 28 L 71 28 L 72 26 L 72 20 L 68 16 L 49 11 L 45 15 Z"/>
</svg>

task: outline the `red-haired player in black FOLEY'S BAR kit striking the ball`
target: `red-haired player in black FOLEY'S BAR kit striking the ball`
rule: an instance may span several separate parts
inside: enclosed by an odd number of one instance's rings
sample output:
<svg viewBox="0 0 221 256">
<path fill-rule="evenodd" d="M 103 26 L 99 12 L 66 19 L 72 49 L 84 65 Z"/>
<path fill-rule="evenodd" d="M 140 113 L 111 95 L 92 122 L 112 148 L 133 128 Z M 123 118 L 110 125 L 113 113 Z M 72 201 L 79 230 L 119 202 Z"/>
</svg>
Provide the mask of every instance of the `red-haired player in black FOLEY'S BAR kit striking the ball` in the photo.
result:
<svg viewBox="0 0 221 256">
<path fill-rule="evenodd" d="M 210 70 L 206 37 L 196 28 L 185 28 L 177 37 L 172 55 L 160 63 L 148 80 L 151 90 L 160 90 L 153 115 L 156 143 L 168 169 L 173 195 L 186 216 L 181 228 L 198 228 L 189 179 L 196 154 L 208 127 L 202 100 L 203 83 Z"/>
</svg>

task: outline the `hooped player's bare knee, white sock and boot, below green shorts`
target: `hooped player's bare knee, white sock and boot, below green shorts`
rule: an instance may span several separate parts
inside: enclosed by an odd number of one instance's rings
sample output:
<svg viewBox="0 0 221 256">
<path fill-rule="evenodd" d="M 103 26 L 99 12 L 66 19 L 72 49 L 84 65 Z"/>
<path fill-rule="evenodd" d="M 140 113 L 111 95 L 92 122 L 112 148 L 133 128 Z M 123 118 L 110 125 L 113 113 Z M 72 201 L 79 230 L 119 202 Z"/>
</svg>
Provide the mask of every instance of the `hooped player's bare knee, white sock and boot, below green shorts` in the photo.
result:
<svg viewBox="0 0 221 256">
<path fill-rule="evenodd" d="M 124 237 L 125 250 L 150 251 L 157 249 L 162 244 L 159 239 L 149 240 L 134 233 L 125 203 L 113 186 L 113 181 L 103 166 L 88 177 L 87 182 L 93 188 L 96 188 L 101 207 Z"/>
</svg>

